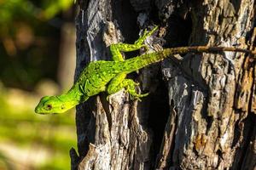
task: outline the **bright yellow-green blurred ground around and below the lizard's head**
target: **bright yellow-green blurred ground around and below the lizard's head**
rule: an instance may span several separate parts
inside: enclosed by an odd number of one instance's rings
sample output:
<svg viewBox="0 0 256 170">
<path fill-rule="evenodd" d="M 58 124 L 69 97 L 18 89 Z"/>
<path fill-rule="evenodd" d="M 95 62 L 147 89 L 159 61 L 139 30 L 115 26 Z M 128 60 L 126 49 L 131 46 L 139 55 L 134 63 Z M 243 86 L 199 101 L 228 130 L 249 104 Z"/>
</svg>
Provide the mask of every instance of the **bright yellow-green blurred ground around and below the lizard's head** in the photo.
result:
<svg viewBox="0 0 256 170">
<path fill-rule="evenodd" d="M 76 146 L 73 111 L 36 115 L 33 94 L 3 86 L 0 93 L 0 169 L 70 169 L 69 150 Z"/>
</svg>

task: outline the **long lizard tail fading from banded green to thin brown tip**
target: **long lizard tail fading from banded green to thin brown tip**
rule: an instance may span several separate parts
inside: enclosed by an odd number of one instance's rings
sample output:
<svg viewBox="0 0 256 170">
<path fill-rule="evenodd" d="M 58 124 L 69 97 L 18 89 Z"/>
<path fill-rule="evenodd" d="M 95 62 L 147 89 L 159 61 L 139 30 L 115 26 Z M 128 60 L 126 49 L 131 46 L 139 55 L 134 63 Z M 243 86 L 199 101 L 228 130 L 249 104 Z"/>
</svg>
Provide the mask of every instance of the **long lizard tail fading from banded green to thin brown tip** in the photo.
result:
<svg viewBox="0 0 256 170">
<path fill-rule="evenodd" d="M 232 47 L 194 46 L 194 47 L 166 48 L 159 52 L 154 52 L 151 54 L 143 54 L 135 58 L 127 59 L 125 60 L 125 67 L 129 72 L 137 71 L 143 68 L 144 66 L 159 62 L 173 54 L 202 53 L 202 52 L 213 53 L 213 52 L 222 52 L 222 51 L 233 51 L 233 52 L 241 52 L 241 53 L 256 55 L 256 51 L 251 51 L 244 48 L 232 48 Z"/>
</svg>

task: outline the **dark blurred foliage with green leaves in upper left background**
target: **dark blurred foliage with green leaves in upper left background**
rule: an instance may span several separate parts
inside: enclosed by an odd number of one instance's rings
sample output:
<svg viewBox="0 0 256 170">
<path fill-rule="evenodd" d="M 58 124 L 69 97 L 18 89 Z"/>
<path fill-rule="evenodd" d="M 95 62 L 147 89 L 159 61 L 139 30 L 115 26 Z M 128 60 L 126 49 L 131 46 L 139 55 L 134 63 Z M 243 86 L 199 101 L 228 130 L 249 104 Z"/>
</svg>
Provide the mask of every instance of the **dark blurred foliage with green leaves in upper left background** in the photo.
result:
<svg viewBox="0 0 256 170">
<path fill-rule="evenodd" d="M 43 77 L 56 79 L 61 11 L 73 0 L 0 0 L 0 79 L 32 90 Z"/>
</svg>

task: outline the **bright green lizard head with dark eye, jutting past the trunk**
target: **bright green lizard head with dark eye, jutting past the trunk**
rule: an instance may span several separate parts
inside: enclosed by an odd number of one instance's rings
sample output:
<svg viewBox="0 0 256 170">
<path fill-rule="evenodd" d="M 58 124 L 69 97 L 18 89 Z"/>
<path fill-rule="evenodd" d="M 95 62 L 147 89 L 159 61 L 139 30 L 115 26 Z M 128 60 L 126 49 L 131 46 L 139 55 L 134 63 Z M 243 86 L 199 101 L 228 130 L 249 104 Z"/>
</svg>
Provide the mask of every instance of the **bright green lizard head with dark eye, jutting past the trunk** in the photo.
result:
<svg viewBox="0 0 256 170">
<path fill-rule="evenodd" d="M 35 112 L 38 114 L 62 113 L 71 109 L 74 105 L 64 102 L 58 96 L 44 96 L 38 103 Z"/>
</svg>

